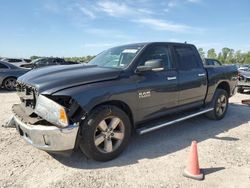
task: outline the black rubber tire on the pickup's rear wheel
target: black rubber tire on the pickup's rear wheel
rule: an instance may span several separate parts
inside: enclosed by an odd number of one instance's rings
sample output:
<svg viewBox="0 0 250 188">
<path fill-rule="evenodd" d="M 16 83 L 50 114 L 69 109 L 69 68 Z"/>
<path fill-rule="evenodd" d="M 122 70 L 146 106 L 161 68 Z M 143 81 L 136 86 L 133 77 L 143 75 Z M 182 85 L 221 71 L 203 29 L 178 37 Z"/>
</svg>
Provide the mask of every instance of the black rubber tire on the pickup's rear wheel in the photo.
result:
<svg viewBox="0 0 250 188">
<path fill-rule="evenodd" d="M 222 107 L 222 105 L 220 104 L 219 100 L 221 98 L 223 98 L 223 96 L 225 97 L 225 107 Z M 224 105 L 224 104 L 223 104 Z M 221 108 L 223 108 L 223 110 L 219 110 L 218 108 L 221 106 Z M 227 109 L 228 109 L 228 94 L 225 90 L 223 89 L 217 89 L 215 91 L 212 103 L 211 103 L 211 107 L 213 107 L 214 109 L 208 113 L 206 113 L 206 116 L 209 119 L 213 119 L 213 120 L 221 120 L 225 117 Z M 221 113 L 222 112 L 222 113 Z"/>
</svg>

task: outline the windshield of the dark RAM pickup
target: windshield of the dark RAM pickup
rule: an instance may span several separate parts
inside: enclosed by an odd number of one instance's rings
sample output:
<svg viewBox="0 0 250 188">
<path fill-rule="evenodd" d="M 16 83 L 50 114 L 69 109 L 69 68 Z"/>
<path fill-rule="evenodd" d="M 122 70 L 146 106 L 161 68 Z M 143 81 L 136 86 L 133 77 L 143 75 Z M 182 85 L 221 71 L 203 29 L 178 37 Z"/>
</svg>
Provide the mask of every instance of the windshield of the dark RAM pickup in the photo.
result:
<svg viewBox="0 0 250 188">
<path fill-rule="evenodd" d="M 134 44 L 111 48 L 97 55 L 88 64 L 101 67 L 126 68 L 143 46 L 143 44 Z"/>
</svg>

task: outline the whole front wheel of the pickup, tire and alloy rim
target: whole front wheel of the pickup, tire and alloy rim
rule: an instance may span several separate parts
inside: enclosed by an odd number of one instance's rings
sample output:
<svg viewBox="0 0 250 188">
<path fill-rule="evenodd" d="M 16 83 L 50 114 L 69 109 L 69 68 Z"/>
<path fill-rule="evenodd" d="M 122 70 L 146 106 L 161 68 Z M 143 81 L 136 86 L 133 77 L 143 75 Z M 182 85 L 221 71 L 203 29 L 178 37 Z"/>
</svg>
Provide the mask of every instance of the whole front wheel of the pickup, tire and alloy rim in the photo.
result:
<svg viewBox="0 0 250 188">
<path fill-rule="evenodd" d="M 128 145 L 131 123 L 127 114 L 115 106 L 100 106 L 82 125 L 80 148 L 87 157 L 108 161 Z"/>
</svg>

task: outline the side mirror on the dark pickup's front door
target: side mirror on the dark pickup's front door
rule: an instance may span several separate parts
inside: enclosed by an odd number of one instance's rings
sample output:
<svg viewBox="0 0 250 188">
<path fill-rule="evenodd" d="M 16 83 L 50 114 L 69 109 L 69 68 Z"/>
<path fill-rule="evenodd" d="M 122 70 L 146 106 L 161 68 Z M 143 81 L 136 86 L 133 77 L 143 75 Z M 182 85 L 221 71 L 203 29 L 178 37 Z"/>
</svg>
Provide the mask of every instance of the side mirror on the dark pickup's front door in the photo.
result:
<svg viewBox="0 0 250 188">
<path fill-rule="evenodd" d="M 138 66 L 137 72 L 148 72 L 148 71 L 162 71 L 164 70 L 164 64 L 162 59 L 152 59 L 145 62 L 145 65 Z"/>
</svg>

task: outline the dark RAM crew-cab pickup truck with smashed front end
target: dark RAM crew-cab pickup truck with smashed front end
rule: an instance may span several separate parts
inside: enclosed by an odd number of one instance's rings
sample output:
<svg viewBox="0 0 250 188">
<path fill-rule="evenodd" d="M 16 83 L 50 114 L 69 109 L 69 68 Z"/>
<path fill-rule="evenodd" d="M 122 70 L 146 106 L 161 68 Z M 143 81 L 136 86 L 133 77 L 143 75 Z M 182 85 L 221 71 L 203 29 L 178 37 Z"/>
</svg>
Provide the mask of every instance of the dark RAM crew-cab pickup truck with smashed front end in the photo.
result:
<svg viewBox="0 0 250 188">
<path fill-rule="evenodd" d="M 194 45 L 139 43 L 111 48 L 88 64 L 30 71 L 17 82 L 21 104 L 9 122 L 48 152 L 80 146 L 107 161 L 144 134 L 194 116 L 222 119 L 237 69 L 204 67 Z"/>
</svg>

